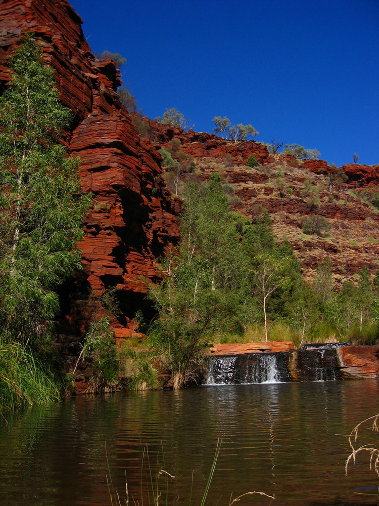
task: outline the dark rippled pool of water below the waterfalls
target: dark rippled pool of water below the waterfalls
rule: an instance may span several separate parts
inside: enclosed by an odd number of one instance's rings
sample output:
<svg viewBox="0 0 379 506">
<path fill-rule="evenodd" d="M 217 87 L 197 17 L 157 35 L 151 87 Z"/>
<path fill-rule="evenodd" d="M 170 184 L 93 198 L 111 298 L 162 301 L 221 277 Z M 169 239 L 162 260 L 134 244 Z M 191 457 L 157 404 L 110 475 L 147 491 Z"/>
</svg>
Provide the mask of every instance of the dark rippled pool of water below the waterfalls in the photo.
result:
<svg viewBox="0 0 379 506">
<path fill-rule="evenodd" d="M 169 503 L 189 505 L 194 472 L 198 506 L 218 439 L 209 506 L 254 490 L 274 495 L 273 505 L 376 504 L 375 496 L 357 494 L 377 492 L 367 459 L 347 477 L 344 466 L 348 434 L 379 411 L 378 401 L 379 382 L 363 380 L 125 392 L 31 409 L 0 433 L 0 504 L 111 504 L 107 448 L 114 488 L 125 496 L 126 471 L 129 494 L 141 506 L 147 444 L 153 471 L 159 458 L 158 468 L 175 476 Z M 143 500 L 149 504 L 146 487 Z M 269 503 L 250 495 L 237 504 Z"/>
</svg>

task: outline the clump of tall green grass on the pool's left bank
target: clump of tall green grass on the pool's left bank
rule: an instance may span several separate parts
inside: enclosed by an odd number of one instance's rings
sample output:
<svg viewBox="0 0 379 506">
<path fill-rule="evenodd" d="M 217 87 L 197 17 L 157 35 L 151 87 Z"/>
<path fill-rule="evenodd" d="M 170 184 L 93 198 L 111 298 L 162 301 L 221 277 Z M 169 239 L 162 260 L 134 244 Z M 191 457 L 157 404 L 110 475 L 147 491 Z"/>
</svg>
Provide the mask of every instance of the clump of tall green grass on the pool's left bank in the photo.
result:
<svg viewBox="0 0 379 506">
<path fill-rule="evenodd" d="M 50 368 L 20 344 L 0 343 L 0 415 L 20 407 L 59 400 Z"/>
</svg>

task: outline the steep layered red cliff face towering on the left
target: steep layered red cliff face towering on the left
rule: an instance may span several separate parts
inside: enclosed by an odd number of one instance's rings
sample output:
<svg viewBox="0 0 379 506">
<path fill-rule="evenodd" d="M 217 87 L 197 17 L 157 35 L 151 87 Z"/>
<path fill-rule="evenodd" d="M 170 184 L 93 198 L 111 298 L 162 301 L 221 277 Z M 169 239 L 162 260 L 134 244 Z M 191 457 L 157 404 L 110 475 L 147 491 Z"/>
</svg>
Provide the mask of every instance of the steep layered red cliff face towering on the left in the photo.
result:
<svg viewBox="0 0 379 506">
<path fill-rule="evenodd" d="M 112 324 L 117 338 L 127 338 L 148 283 L 158 279 L 156 259 L 178 238 L 179 207 L 161 178 L 161 157 L 140 140 L 118 100 L 119 71 L 112 59 L 93 57 L 82 20 L 66 0 L 8 0 L 0 6 L 0 87 L 10 79 L 8 56 L 25 33 L 33 32 L 45 63 L 56 71 L 62 102 L 74 113 L 64 140 L 82 160 L 83 191 L 93 195 L 78 244 L 85 274 L 81 290 L 92 302 L 78 310 L 78 304 L 67 303 L 75 287 L 65 287 L 62 331 L 82 332 L 93 314 L 89 306 L 103 314 L 99 297 L 117 287 L 120 312 Z"/>
</svg>

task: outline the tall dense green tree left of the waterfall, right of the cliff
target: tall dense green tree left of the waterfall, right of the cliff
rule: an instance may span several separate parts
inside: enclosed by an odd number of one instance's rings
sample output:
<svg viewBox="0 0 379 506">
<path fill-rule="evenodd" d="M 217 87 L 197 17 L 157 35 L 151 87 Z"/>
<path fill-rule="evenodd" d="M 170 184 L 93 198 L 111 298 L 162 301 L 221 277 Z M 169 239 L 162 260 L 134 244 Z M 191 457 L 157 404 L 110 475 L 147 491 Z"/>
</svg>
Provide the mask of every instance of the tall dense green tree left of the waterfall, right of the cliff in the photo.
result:
<svg viewBox="0 0 379 506">
<path fill-rule="evenodd" d="M 235 305 L 246 280 L 243 256 L 220 176 L 212 175 L 204 197 L 187 185 L 179 248 L 169 251 L 166 278 L 151 290 L 159 320 L 150 334 L 174 387 L 196 379 L 211 333 L 241 324 Z"/>
</svg>

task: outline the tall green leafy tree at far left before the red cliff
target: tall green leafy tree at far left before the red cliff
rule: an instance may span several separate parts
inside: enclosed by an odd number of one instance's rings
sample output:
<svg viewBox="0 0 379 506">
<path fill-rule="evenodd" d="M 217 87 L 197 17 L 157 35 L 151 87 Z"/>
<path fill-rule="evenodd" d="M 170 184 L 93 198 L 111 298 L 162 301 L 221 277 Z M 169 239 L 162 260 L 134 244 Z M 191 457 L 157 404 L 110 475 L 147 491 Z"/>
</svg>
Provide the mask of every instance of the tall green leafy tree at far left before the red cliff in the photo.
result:
<svg viewBox="0 0 379 506">
<path fill-rule="evenodd" d="M 56 289 L 81 267 L 76 243 L 90 202 L 80 196 L 78 160 L 59 144 L 71 111 L 41 58 L 28 36 L 0 98 L 0 328 L 3 342 L 23 344 L 49 336 Z"/>
</svg>

